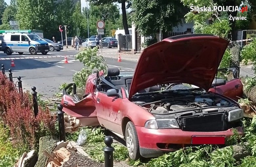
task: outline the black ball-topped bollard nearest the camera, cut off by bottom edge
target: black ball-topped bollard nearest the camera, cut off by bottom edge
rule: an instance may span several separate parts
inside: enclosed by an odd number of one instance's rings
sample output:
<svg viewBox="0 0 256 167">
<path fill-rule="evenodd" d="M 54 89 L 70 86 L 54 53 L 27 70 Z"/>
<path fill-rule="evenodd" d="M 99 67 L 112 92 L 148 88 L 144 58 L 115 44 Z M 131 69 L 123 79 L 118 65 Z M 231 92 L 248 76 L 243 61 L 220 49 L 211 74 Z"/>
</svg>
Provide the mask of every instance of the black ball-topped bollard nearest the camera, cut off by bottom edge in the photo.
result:
<svg viewBox="0 0 256 167">
<path fill-rule="evenodd" d="M 113 143 L 113 139 L 107 136 L 104 139 L 104 143 L 106 144 L 106 147 L 103 148 L 105 167 L 113 167 L 113 151 L 115 151 L 115 149 L 111 146 L 111 144 Z"/>
</svg>

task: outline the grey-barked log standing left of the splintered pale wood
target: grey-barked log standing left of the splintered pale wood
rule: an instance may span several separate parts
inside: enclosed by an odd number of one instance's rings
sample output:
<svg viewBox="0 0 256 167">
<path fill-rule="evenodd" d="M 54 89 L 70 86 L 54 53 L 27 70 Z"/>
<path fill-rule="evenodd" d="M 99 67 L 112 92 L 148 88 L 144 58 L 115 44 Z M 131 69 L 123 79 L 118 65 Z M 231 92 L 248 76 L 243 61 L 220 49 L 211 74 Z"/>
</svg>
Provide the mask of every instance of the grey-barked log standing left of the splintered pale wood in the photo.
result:
<svg viewBox="0 0 256 167">
<path fill-rule="evenodd" d="M 57 146 L 57 139 L 52 136 L 44 136 L 39 139 L 39 152 L 38 152 L 38 160 L 35 164 L 35 167 L 46 167 L 48 164 L 48 159 L 43 152 L 47 151 L 48 153 L 52 153 L 53 150 Z"/>
</svg>

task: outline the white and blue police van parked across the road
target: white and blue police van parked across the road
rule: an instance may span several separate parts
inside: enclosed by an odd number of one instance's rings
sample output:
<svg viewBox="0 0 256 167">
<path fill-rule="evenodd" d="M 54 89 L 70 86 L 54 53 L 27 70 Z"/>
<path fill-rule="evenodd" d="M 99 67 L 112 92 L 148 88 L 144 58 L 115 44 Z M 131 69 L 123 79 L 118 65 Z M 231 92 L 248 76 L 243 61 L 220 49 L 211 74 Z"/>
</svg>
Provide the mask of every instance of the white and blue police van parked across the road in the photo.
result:
<svg viewBox="0 0 256 167">
<path fill-rule="evenodd" d="M 2 34 L 2 51 L 7 55 L 11 55 L 13 52 L 46 55 L 49 52 L 48 43 L 37 34 L 26 32 L 4 32 Z"/>
</svg>

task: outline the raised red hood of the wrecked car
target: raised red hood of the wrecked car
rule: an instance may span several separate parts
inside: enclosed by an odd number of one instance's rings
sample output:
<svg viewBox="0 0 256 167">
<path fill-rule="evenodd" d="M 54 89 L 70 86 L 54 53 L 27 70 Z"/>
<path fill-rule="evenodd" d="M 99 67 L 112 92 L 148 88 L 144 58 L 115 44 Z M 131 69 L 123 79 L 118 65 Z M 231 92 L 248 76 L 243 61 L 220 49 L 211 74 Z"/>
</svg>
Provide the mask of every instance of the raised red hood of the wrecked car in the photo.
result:
<svg viewBox="0 0 256 167">
<path fill-rule="evenodd" d="M 158 84 L 187 83 L 208 90 L 228 43 L 214 35 L 186 34 L 145 48 L 135 68 L 129 99 Z"/>
</svg>

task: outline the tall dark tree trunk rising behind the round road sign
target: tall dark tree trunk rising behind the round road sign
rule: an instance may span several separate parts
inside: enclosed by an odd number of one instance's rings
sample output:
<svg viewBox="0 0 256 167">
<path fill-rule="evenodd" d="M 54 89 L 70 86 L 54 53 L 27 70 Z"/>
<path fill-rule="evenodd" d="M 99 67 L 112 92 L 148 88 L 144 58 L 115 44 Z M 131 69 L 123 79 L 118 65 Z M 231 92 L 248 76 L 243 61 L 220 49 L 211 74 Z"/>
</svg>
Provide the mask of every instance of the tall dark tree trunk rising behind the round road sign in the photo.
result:
<svg viewBox="0 0 256 167">
<path fill-rule="evenodd" d="M 129 27 L 127 23 L 127 15 L 126 15 L 126 9 L 131 6 L 131 0 L 89 0 L 95 5 L 104 5 L 104 4 L 112 4 L 112 3 L 120 3 L 121 9 L 122 9 L 122 23 L 124 27 L 124 32 L 126 35 L 129 34 Z M 128 3 L 126 6 L 125 3 Z"/>
</svg>

